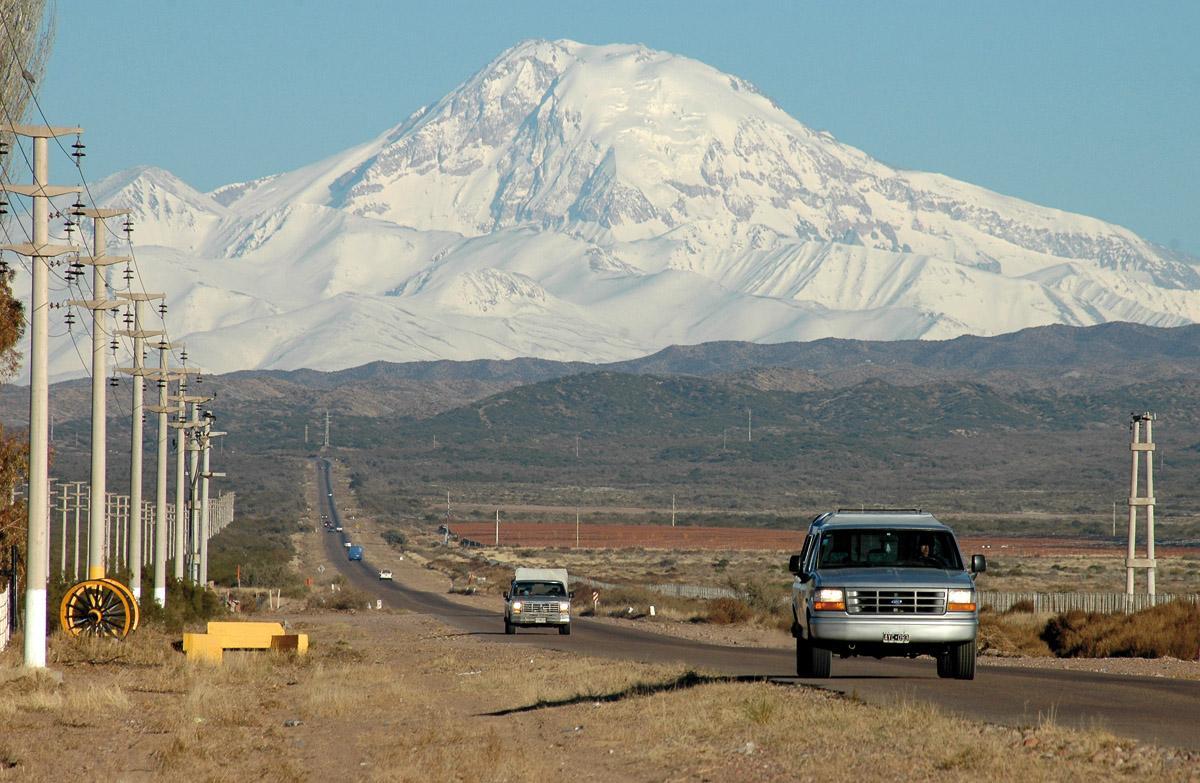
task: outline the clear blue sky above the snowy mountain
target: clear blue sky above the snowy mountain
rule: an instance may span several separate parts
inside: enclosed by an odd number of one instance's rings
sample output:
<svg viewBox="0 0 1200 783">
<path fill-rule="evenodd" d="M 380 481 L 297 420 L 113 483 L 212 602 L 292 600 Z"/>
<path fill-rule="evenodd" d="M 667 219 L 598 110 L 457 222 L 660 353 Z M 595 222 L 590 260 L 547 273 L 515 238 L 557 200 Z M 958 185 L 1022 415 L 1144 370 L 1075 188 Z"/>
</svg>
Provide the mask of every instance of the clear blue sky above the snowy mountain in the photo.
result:
<svg viewBox="0 0 1200 783">
<path fill-rule="evenodd" d="M 644 43 L 757 84 L 893 166 L 1200 256 L 1198 2 L 59 0 L 41 85 L 98 179 L 193 186 L 364 142 L 517 41 Z M 102 14 L 102 16 L 101 16 Z"/>
</svg>

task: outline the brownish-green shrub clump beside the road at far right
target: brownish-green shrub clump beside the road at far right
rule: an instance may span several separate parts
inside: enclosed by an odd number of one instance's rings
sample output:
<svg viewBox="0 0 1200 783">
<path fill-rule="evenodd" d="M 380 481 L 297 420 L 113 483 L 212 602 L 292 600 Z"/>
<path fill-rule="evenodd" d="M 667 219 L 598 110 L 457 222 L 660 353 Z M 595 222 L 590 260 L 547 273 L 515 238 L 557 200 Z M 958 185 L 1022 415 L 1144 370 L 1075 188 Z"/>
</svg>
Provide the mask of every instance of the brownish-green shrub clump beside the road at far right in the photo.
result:
<svg viewBox="0 0 1200 783">
<path fill-rule="evenodd" d="M 1162 658 L 1200 653 L 1200 606 L 1171 602 L 1129 615 L 1068 611 L 1051 618 L 1042 639 L 1060 658 Z"/>
</svg>

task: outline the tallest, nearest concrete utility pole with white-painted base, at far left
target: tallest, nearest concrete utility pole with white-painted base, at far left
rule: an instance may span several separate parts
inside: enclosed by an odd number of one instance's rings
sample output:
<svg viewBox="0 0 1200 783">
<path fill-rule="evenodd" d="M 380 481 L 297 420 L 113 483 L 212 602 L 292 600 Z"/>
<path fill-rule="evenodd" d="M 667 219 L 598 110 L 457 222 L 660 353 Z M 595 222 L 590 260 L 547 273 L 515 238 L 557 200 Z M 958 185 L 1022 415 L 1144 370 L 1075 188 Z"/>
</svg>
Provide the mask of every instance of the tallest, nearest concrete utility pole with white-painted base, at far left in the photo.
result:
<svg viewBox="0 0 1200 783">
<path fill-rule="evenodd" d="M 46 127 L 6 122 L 0 128 L 34 139 L 34 184 L 5 185 L 11 193 L 34 199 L 32 241 L 2 245 L 32 262 L 32 291 L 29 304 L 29 544 L 25 551 L 25 665 L 46 668 L 46 588 L 49 582 L 49 378 L 47 375 L 50 264 L 49 258 L 74 252 L 71 245 L 50 245 L 50 198 L 78 193 L 78 187 L 49 185 L 48 139 L 76 136 L 80 127 Z"/>
</svg>

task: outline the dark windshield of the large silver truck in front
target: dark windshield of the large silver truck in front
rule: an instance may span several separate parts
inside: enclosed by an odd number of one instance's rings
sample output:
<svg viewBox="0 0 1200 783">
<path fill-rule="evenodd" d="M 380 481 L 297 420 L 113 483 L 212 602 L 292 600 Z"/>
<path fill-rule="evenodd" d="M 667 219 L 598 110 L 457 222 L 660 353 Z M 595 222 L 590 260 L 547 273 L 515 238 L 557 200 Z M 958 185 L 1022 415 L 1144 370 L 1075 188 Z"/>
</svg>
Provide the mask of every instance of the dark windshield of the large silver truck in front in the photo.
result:
<svg viewBox="0 0 1200 783">
<path fill-rule="evenodd" d="M 944 530 L 830 530 L 821 536 L 817 568 L 950 568 L 962 570 Z"/>
</svg>

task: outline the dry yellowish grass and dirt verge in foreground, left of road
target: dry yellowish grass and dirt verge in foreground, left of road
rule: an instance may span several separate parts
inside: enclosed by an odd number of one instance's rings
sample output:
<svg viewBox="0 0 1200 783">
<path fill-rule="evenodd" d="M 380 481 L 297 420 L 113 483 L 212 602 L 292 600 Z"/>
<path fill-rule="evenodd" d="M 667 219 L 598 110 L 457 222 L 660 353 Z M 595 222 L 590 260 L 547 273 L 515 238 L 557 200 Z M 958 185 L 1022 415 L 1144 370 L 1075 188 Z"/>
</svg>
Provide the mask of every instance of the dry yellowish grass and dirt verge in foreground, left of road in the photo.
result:
<svg viewBox="0 0 1200 783">
<path fill-rule="evenodd" d="M 414 615 L 326 612 L 298 624 L 313 638 L 310 656 L 232 655 L 222 667 L 190 665 L 168 638 L 140 632 L 124 645 L 54 639 L 61 683 L 0 668 L 11 675 L 0 677 L 0 781 L 60 779 L 43 747 L 89 758 L 77 772 L 108 779 L 137 770 L 212 781 L 498 782 L 564 770 L 580 781 L 1200 772 L 1103 734 L 996 728 L 914 704 L 865 706 L 678 665 L 614 665 L 492 644 Z M 514 752 L 515 739 L 539 752 Z M 89 755 L 101 745 L 124 749 Z"/>
</svg>

